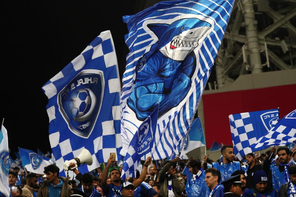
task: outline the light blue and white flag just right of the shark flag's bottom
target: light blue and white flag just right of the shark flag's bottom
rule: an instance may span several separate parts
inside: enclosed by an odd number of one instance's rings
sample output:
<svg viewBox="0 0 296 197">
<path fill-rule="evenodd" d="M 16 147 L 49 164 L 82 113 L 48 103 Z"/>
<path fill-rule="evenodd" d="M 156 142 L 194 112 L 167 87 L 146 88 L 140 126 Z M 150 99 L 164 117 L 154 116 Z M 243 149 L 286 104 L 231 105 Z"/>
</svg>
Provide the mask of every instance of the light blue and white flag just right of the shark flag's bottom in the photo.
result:
<svg viewBox="0 0 296 197">
<path fill-rule="evenodd" d="M 205 136 L 202 131 L 202 125 L 200 123 L 200 118 L 193 120 L 190 127 L 189 134 L 185 136 L 185 142 L 181 155 L 194 150 L 195 148 L 205 146 Z"/>
</svg>

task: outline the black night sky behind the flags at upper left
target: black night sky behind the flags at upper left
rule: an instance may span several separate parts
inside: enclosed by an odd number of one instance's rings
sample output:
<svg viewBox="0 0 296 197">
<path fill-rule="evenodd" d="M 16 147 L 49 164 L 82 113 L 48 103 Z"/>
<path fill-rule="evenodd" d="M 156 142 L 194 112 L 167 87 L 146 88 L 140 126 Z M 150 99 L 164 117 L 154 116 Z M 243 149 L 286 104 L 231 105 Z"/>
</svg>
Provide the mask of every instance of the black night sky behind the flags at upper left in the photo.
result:
<svg viewBox="0 0 296 197">
<path fill-rule="evenodd" d="M 51 151 L 48 99 L 41 87 L 102 31 L 111 31 L 122 76 L 128 53 L 122 16 L 139 12 L 134 4 L 143 2 L 101 2 L 7 1 L 1 6 L 1 113 L 11 151 Z"/>
</svg>

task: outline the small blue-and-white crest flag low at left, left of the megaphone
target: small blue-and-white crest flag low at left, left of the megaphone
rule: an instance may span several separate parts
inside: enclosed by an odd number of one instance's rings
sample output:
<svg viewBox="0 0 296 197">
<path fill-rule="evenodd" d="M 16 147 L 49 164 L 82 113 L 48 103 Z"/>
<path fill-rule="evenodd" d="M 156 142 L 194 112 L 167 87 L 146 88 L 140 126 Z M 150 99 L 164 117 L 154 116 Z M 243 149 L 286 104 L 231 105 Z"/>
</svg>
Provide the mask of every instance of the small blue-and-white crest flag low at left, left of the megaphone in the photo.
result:
<svg viewBox="0 0 296 197">
<path fill-rule="evenodd" d="M 49 158 L 42 157 L 34 151 L 24 148 L 19 148 L 19 151 L 22 159 L 22 165 L 29 172 L 44 174 L 44 167 L 52 164 L 52 161 L 50 161 Z"/>
</svg>

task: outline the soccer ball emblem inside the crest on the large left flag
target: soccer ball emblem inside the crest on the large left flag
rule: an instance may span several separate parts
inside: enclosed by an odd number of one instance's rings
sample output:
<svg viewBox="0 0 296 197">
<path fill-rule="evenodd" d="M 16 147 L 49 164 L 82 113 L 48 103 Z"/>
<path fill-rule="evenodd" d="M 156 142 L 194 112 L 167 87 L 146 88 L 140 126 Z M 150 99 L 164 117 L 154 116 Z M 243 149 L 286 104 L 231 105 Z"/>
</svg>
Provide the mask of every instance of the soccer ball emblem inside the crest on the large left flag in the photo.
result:
<svg viewBox="0 0 296 197">
<path fill-rule="evenodd" d="M 94 111 L 95 103 L 96 96 L 89 88 L 75 91 L 69 101 L 69 108 L 73 119 L 76 121 L 87 120 Z"/>
</svg>

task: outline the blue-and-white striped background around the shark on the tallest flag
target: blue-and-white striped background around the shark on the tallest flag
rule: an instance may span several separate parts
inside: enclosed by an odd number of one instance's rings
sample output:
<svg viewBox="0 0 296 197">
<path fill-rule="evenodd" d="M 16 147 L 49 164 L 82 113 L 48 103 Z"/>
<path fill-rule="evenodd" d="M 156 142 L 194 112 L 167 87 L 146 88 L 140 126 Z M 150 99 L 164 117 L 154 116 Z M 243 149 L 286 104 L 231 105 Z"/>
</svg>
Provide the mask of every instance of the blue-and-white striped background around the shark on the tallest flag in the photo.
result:
<svg viewBox="0 0 296 197">
<path fill-rule="evenodd" d="M 125 155 L 130 139 L 142 123 L 127 105 L 127 99 L 135 88 L 135 71 L 138 60 L 150 49 L 152 50 L 152 45 L 158 41 L 157 36 L 149 30 L 147 25 L 172 24 L 174 21 L 186 18 L 198 18 L 211 24 L 207 34 L 200 40 L 199 46 L 194 49 L 197 64 L 189 82 L 190 88 L 187 95 L 176 107 L 158 119 L 152 156 L 153 159 L 164 159 L 173 154 L 177 155 L 180 151 L 182 138 L 192 124 L 214 59 L 220 48 L 233 4 L 234 0 L 163 1 L 138 14 L 124 17 L 129 30 L 125 41 L 130 53 L 126 56 L 127 64 L 123 74 L 120 102 L 123 142 L 120 154 Z"/>
</svg>

